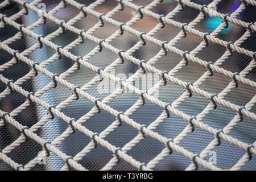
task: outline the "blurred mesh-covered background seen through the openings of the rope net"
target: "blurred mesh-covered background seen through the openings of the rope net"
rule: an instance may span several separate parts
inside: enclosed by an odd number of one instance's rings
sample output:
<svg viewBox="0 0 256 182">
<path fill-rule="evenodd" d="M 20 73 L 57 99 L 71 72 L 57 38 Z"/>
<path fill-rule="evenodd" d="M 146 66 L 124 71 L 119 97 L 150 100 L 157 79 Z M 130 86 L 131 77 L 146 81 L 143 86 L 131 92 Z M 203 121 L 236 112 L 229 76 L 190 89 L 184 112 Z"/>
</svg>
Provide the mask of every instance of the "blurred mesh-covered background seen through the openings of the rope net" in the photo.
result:
<svg viewBox="0 0 256 182">
<path fill-rule="evenodd" d="M 3 2 L 0 0 L 0 2 Z M 29 1 L 31 2 L 31 1 Z M 46 4 L 46 10 L 50 11 L 54 7 L 56 7 L 60 1 L 42 1 Z M 95 1 L 78 1 L 80 3 L 84 3 L 86 6 L 90 5 Z M 193 1 L 199 3 L 200 5 L 208 5 L 212 1 Z M 147 6 L 151 1 L 148 0 L 135 0 L 133 1 L 138 6 Z M 217 5 L 217 11 L 220 13 L 229 13 L 232 14 L 239 6 L 241 5 L 241 1 L 222 1 Z M 109 11 L 113 10 L 114 7 L 118 6 L 118 2 L 116 1 L 106 1 L 102 3 L 100 6 L 97 6 L 94 10 L 99 13 L 107 14 Z M 151 10 L 158 14 L 167 15 L 170 11 L 174 10 L 177 6 L 177 2 L 164 0 L 163 3 L 159 3 L 158 6 L 152 8 Z M 7 14 L 11 16 L 21 9 L 16 3 L 11 3 L 9 6 L 6 6 L 3 9 L 0 9 L 0 13 Z M 75 17 L 79 14 L 80 10 L 76 9 L 71 5 L 67 5 L 65 9 L 58 11 L 54 16 L 58 19 L 64 19 L 66 22 L 68 20 Z M 179 11 L 174 16 L 174 20 L 181 23 L 189 23 L 192 22 L 193 19 L 200 13 L 200 11 L 192 9 L 188 6 L 184 6 L 184 10 Z M 255 13 L 256 7 L 251 5 L 247 5 L 246 9 L 237 16 L 237 19 L 241 19 L 245 22 L 255 22 Z M 133 16 L 137 14 L 137 12 L 129 7 L 125 6 L 123 11 L 119 11 L 117 14 L 113 16 L 113 19 L 118 20 L 119 22 L 127 22 Z M 29 10 L 28 15 L 24 15 L 16 22 L 20 24 L 24 24 L 26 27 L 31 23 L 36 22 L 40 16 L 38 16 L 33 11 Z M 78 20 L 74 26 L 80 29 L 89 30 L 92 28 L 94 24 L 96 24 L 98 19 L 92 15 L 87 15 L 86 18 L 82 18 Z M 201 22 L 197 23 L 195 28 L 202 32 L 212 32 L 214 31 L 220 24 L 222 23 L 222 19 L 206 16 L 205 19 L 201 20 Z M 158 24 L 158 20 L 151 18 L 150 16 L 144 15 L 143 19 L 139 20 L 137 23 L 133 24 L 133 28 L 140 32 L 149 32 L 152 28 L 154 28 Z M 57 24 L 50 22 L 47 20 L 46 24 L 42 24 L 36 28 L 34 28 L 34 32 L 36 34 L 42 34 L 46 36 L 56 31 L 59 26 Z M 106 39 L 111 36 L 115 31 L 118 30 L 118 27 L 113 26 L 112 24 L 106 23 L 104 27 L 99 28 L 92 35 L 96 36 L 100 39 Z M 233 41 L 236 42 L 237 39 L 241 38 L 241 36 L 245 33 L 246 28 L 242 28 L 237 26 L 236 24 L 229 23 L 229 27 L 225 28 L 217 35 L 217 38 L 222 40 L 226 40 L 227 42 Z M 7 25 L 6 28 L 0 29 L 0 40 L 3 42 L 4 40 L 11 38 L 14 36 L 18 30 Z M 160 39 L 162 41 L 166 40 L 170 42 L 170 40 L 174 39 L 175 36 L 180 32 L 180 29 L 170 24 L 166 24 L 164 28 L 158 31 L 154 38 Z M 60 34 L 56 36 L 56 38 L 52 39 L 52 42 L 60 45 L 67 46 L 69 43 L 73 42 L 77 39 L 77 35 L 71 31 L 65 30 L 64 34 Z M 181 38 L 179 42 L 175 44 L 175 47 L 180 48 L 183 51 L 192 51 L 195 49 L 203 39 L 198 38 L 196 35 L 192 35 L 187 32 L 186 38 Z M 24 51 L 28 47 L 31 47 L 37 42 L 37 40 L 24 35 L 23 39 L 17 40 L 9 46 L 18 49 L 20 52 Z M 127 51 L 127 49 L 133 47 L 138 42 L 138 38 L 134 35 L 131 35 L 129 32 L 124 32 L 122 36 L 118 36 L 117 39 L 113 40 L 110 44 L 112 46 L 123 49 Z M 75 48 L 71 49 L 74 55 L 84 56 L 89 53 L 97 44 L 91 42 L 90 40 L 84 41 L 82 44 L 78 44 Z M 249 39 L 247 39 L 244 43 L 242 43 L 241 47 L 249 49 L 251 51 L 256 51 L 255 44 L 255 32 L 251 35 Z M 132 55 L 140 60 L 150 60 L 152 57 L 156 55 L 160 51 L 160 47 L 152 44 L 150 42 L 146 43 L 146 46 L 139 48 Z M 220 45 L 209 42 L 209 46 L 204 48 L 202 51 L 197 53 L 197 57 L 203 59 L 205 61 L 213 61 L 213 63 L 220 59 L 220 57 L 224 54 L 226 49 Z M 38 49 L 32 52 L 28 57 L 37 61 L 38 63 L 42 63 L 43 61 L 49 59 L 55 51 L 52 48 L 47 46 L 43 46 L 41 49 Z M 0 64 L 7 63 L 12 59 L 12 56 L 0 50 Z M 91 57 L 88 62 L 96 65 L 97 67 L 105 68 L 109 64 L 113 63 L 113 61 L 117 59 L 117 55 L 106 50 L 105 48 L 102 52 L 97 53 L 95 56 Z M 166 56 L 163 56 L 159 61 L 154 64 L 155 68 L 158 68 L 162 71 L 170 71 L 174 68 L 180 61 L 182 57 L 176 55 L 168 51 Z M 241 72 L 245 67 L 250 63 L 251 58 L 242 55 L 240 53 L 234 52 L 233 56 L 230 56 L 226 61 L 220 66 L 232 72 Z M 61 56 L 61 59 L 53 61 L 51 64 L 47 65 L 46 69 L 52 73 L 61 74 L 67 71 L 72 65 L 75 64 L 75 61 L 68 59 L 65 56 Z M 18 78 L 26 75 L 30 71 L 30 67 L 27 64 L 19 61 L 18 64 L 13 65 L 12 67 L 5 69 L 1 74 L 9 79 L 13 79 L 14 81 L 18 80 Z M 131 73 L 135 73 L 138 71 L 138 66 L 134 63 L 131 63 L 128 60 L 125 60 L 124 64 L 120 64 L 115 67 L 114 72 L 115 75 L 119 73 L 125 74 L 127 77 Z M 195 82 L 197 79 L 203 75 L 205 72 L 205 68 L 201 67 L 198 64 L 192 63 L 189 61 L 187 67 L 183 67 L 179 72 L 176 73 L 176 77 L 180 80 L 189 82 Z M 253 71 L 249 72 L 246 78 L 255 81 L 255 68 Z M 81 66 L 81 68 L 70 76 L 65 78 L 65 80 L 71 82 L 73 85 L 85 85 L 87 82 L 92 80 L 95 77 L 95 73 L 90 71 L 89 69 Z M 152 78 L 154 76 L 152 75 Z M 106 78 L 105 78 L 106 79 Z M 148 77 L 147 77 L 148 79 Z M 139 80 L 139 78 L 138 78 Z M 152 85 L 149 85 L 147 89 L 150 89 L 153 85 L 155 85 L 160 80 L 160 77 L 157 79 L 153 79 Z M 38 76 L 32 77 L 30 80 L 24 82 L 22 88 L 27 90 L 28 92 L 37 92 L 38 90 L 44 88 L 49 82 L 52 80 L 47 76 L 44 76 L 42 73 L 39 73 Z M 143 80 L 145 81 L 145 80 Z M 228 86 L 229 82 L 232 79 L 220 75 L 218 73 L 214 73 L 212 77 L 209 77 L 204 84 L 200 86 L 201 89 L 206 90 L 209 93 L 220 93 L 226 86 Z M 141 83 L 141 80 L 139 80 Z M 109 84 L 112 82 L 109 81 Z M 141 84 L 139 84 L 139 89 L 141 88 Z M 135 85 L 136 86 L 136 85 Z M 137 85 L 138 86 L 138 85 Z M 6 85 L 0 82 L 0 92 L 2 92 L 6 88 Z M 111 94 L 113 90 L 109 89 L 108 93 L 99 93 L 98 84 L 92 86 L 88 91 L 89 94 L 96 98 L 101 98 L 102 100 Z M 164 102 L 173 102 L 183 94 L 185 91 L 184 88 L 181 88 L 179 85 L 172 84 L 168 82 L 166 86 L 163 86 L 158 93 L 158 98 Z M 251 100 L 252 97 L 255 96 L 256 90 L 251 88 L 250 86 L 239 83 L 238 88 L 233 89 L 231 92 L 225 96 L 225 100 L 230 101 L 236 105 L 245 105 L 247 102 Z M 52 88 L 48 90 L 43 96 L 40 97 L 43 101 L 47 102 L 49 105 L 58 105 L 60 102 L 66 100 L 69 96 L 71 96 L 72 91 L 65 88 L 64 86 L 57 84 L 56 88 Z M 114 98 L 108 105 L 117 109 L 118 111 L 126 111 L 131 107 L 135 102 L 139 99 L 134 93 L 123 93 L 118 97 Z M 26 98 L 17 92 L 13 92 L 13 94 L 9 94 L 2 100 L 0 100 L 0 109 L 3 111 L 11 112 L 16 107 L 20 106 Z M 182 102 L 177 109 L 182 110 L 184 113 L 189 115 L 197 115 L 203 111 L 203 109 L 209 104 L 209 100 L 204 97 L 198 96 L 193 93 L 193 96 Z M 79 119 L 82 115 L 85 115 L 90 111 L 93 107 L 93 103 L 85 100 L 80 97 L 79 100 L 73 101 L 68 106 L 64 107 L 61 111 L 68 115 L 71 118 Z M 254 106 L 251 109 L 252 112 L 255 113 L 256 107 Z M 146 126 L 150 125 L 151 122 L 154 122 L 156 118 L 162 113 L 163 109 L 159 106 L 152 104 L 149 101 L 146 101 L 146 104 L 139 107 L 137 111 L 135 111 L 130 118 L 133 118 L 134 121 L 145 124 Z M 39 105 L 35 105 L 34 103 L 27 107 L 27 109 L 21 111 L 16 117 L 16 121 L 21 123 L 24 126 L 31 127 L 36 122 L 43 119 L 45 115 L 48 113 L 46 109 Z M 215 129 L 223 129 L 228 123 L 233 119 L 236 115 L 236 112 L 233 110 L 226 109 L 225 107 L 218 105 L 216 110 L 211 111 L 207 117 L 203 119 L 202 122 L 207 123 L 207 125 L 214 127 Z M 101 110 L 100 114 L 95 114 L 93 117 L 88 119 L 82 125 L 92 130 L 93 132 L 100 133 L 105 130 L 113 121 L 115 121 L 115 117 L 113 115 L 107 113 L 104 110 Z M 185 126 L 188 123 L 184 121 L 184 119 L 176 117 L 174 114 L 171 114 L 170 118 L 165 119 L 160 125 L 154 130 L 159 134 L 163 135 L 167 138 L 175 138 L 181 131 L 184 130 Z M 46 123 L 41 129 L 36 131 L 40 137 L 45 140 L 53 141 L 56 137 L 62 134 L 68 127 L 68 124 L 65 123 L 62 119 L 57 118 L 52 119 Z M 256 140 L 256 123 L 249 118 L 244 117 L 243 122 L 238 123 L 232 131 L 229 133 L 230 136 L 241 140 L 242 142 L 252 144 Z M 105 139 L 112 143 L 114 146 L 122 147 L 125 143 L 129 142 L 138 134 L 138 131 L 133 127 L 127 125 L 125 122 L 122 122 L 122 126 L 115 129 L 111 134 L 108 135 Z M 0 148 L 3 149 L 15 139 L 17 139 L 20 135 L 20 132 L 16 130 L 11 125 L 6 125 L 0 127 Z M 180 146 L 185 149 L 194 152 L 200 153 L 208 143 L 213 139 L 213 135 L 207 133 L 196 127 L 193 133 L 189 133 L 187 137 L 183 139 L 180 143 Z M 90 142 L 90 138 L 86 137 L 86 135 L 80 133 L 76 130 L 75 134 L 69 135 L 63 142 L 61 142 L 57 148 L 61 151 L 65 152 L 67 155 L 75 156 L 78 152 L 80 152 L 88 143 Z M 150 137 L 146 137 L 140 143 L 138 143 L 135 147 L 133 147 L 127 154 L 133 156 L 133 158 L 139 160 L 140 162 L 148 163 L 150 160 L 155 158 L 156 155 L 163 150 L 163 143 L 158 142 L 155 139 Z M 27 139 L 26 142 L 16 147 L 13 151 L 11 151 L 8 156 L 15 160 L 15 162 L 19 164 L 26 164 L 30 160 L 34 159 L 38 152 L 42 151 L 42 147 L 34 142 L 31 139 Z M 233 146 L 225 141 L 221 141 L 221 145 L 214 148 L 217 154 L 217 166 L 220 168 L 230 168 L 234 164 L 238 162 L 238 160 L 245 154 L 246 151 L 243 151 L 241 148 Z M 112 152 L 108 151 L 106 148 L 98 145 L 97 148 L 93 149 L 89 152 L 79 163 L 82 164 L 87 169 L 90 170 L 98 170 L 105 166 L 106 163 L 112 158 Z M 210 157 L 210 156 L 209 156 Z M 206 158 L 206 160 L 209 159 Z M 175 152 L 172 155 L 168 155 L 165 159 L 163 159 L 160 163 L 155 166 L 155 170 L 184 170 L 191 163 L 191 160 L 187 159 L 185 156 L 180 155 Z M 46 165 L 36 165 L 34 170 L 58 170 L 60 169 L 65 162 L 61 160 L 58 156 L 51 154 L 47 157 Z M 0 161 L 0 169 L 1 170 L 12 170 L 11 167 L 7 166 L 4 162 Z M 126 163 L 124 160 L 121 161 L 113 167 L 113 170 L 133 170 L 135 169 L 129 163 Z M 200 170 L 205 170 L 203 167 L 199 167 Z M 247 162 L 242 169 L 256 169 L 256 158 L 253 156 L 253 159 L 250 162 Z"/>
</svg>

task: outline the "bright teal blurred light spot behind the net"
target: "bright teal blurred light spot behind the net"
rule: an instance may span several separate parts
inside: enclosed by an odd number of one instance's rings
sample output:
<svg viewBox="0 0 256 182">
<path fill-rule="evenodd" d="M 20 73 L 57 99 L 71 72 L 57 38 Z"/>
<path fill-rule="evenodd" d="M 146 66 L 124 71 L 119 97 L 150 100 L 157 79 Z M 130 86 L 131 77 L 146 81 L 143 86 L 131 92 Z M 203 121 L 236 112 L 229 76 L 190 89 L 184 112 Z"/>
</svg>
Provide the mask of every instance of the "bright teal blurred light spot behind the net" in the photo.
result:
<svg viewBox="0 0 256 182">
<path fill-rule="evenodd" d="M 205 22 L 204 22 L 204 26 L 205 28 L 209 31 L 212 32 L 214 31 L 218 26 L 220 26 L 220 24 L 222 23 L 222 19 L 218 18 L 218 17 L 209 17 Z M 233 27 L 232 23 L 229 23 L 229 27 L 225 28 L 224 30 L 222 30 L 220 32 L 220 34 L 227 34 L 231 28 Z"/>
</svg>

